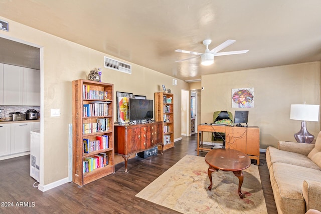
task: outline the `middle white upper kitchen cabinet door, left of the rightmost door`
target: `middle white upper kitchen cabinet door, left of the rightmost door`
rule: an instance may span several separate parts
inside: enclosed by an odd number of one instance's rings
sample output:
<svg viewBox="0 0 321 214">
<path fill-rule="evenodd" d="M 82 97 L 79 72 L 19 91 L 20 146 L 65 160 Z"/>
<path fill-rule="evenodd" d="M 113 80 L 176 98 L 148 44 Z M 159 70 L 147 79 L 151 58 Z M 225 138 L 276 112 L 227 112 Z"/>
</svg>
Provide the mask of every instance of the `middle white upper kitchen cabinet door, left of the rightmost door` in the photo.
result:
<svg viewBox="0 0 321 214">
<path fill-rule="evenodd" d="M 23 67 L 4 64 L 4 105 L 23 104 Z"/>
</svg>

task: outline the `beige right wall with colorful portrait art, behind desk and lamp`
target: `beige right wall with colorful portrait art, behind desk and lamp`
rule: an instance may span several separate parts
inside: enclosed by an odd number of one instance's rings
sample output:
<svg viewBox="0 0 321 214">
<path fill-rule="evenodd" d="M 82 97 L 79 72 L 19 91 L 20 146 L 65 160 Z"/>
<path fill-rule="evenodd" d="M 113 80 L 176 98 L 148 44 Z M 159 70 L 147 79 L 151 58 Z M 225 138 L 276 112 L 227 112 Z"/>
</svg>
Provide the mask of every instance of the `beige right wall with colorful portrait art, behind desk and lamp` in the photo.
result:
<svg viewBox="0 0 321 214">
<path fill-rule="evenodd" d="M 254 108 L 249 108 L 248 125 L 259 126 L 260 148 L 277 146 L 277 141 L 295 141 L 301 121 L 290 120 L 291 104 L 320 103 L 320 62 L 269 67 L 202 76 L 201 121 L 212 122 L 213 112 L 231 111 L 231 90 L 254 88 Z M 244 109 L 243 109 L 244 110 Z M 314 136 L 318 122 L 306 122 Z M 208 137 L 209 138 L 209 137 Z M 205 139 L 205 140 L 210 140 Z"/>
</svg>

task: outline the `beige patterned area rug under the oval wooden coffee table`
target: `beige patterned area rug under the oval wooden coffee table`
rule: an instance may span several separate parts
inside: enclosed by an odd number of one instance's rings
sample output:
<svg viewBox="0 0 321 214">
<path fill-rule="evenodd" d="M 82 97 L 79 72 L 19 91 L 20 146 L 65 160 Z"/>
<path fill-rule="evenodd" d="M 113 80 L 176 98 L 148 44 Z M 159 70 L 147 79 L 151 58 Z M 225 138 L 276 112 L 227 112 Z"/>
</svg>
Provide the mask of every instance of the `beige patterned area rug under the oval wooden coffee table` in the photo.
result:
<svg viewBox="0 0 321 214">
<path fill-rule="evenodd" d="M 204 157 L 186 155 L 136 196 L 182 213 L 267 213 L 257 165 L 243 170 L 243 199 L 233 172 L 213 172 L 209 191 L 208 167 Z"/>
</svg>

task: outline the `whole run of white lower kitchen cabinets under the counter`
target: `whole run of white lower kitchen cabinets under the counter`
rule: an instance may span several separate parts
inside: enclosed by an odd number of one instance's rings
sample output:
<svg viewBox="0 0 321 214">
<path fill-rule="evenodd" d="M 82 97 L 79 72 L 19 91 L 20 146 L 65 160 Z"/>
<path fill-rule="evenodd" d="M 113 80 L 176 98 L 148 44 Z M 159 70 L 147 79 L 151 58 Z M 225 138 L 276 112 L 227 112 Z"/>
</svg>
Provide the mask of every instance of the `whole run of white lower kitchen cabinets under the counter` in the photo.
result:
<svg viewBox="0 0 321 214">
<path fill-rule="evenodd" d="M 0 159 L 30 151 L 30 132 L 38 130 L 40 122 L 0 123 Z"/>
</svg>

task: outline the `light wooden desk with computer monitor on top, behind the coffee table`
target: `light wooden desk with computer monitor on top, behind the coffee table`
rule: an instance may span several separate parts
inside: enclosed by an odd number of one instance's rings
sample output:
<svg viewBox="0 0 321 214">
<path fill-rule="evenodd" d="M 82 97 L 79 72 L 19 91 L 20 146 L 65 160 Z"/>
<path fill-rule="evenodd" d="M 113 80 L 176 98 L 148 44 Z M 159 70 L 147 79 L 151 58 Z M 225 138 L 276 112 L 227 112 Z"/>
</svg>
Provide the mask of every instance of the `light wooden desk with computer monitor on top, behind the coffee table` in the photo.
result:
<svg viewBox="0 0 321 214">
<path fill-rule="evenodd" d="M 200 150 L 211 151 L 211 148 L 203 147 L 203 132 L 223 132 L 225 133 L 225 148 L 235 149 L 247 154 L 251 159 L 260 164 L 260 128 L 257 126 L 237 127 L 237 126 L 197 126 L 197 155 Z"/>
</svg>

